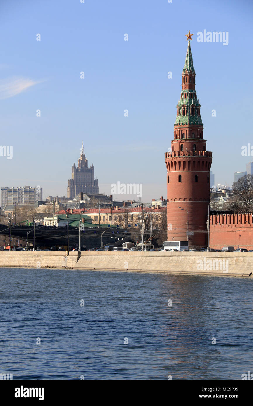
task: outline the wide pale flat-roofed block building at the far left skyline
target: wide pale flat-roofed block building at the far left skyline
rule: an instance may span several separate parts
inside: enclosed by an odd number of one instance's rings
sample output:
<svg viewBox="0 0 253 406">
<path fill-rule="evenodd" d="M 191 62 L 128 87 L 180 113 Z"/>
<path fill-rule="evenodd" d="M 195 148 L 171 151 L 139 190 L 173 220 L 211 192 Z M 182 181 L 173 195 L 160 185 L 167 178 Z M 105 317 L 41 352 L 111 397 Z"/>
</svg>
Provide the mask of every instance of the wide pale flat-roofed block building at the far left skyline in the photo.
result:
<svg viewBox="0 0 253 406">
<path fill-rule="evenodd" d="M 1 207 L 9 204 L 34 204 L 37 201 L 42 201 L 42 188 L 36 186 L 16 187 L 16 188 L 1 188 Z"/>
</svg>

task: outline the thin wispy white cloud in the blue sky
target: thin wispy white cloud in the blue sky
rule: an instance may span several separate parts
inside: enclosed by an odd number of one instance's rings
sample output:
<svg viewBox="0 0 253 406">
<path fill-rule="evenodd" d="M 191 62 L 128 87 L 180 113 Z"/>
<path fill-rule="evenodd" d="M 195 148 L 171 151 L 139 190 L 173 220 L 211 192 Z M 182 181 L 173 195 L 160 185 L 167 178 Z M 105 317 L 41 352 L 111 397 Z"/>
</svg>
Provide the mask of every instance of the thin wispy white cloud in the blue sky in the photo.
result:
<svg viewBox="0 0 253 406">
<path fill-rule="evenodd" d="M 26 78 L 7 78 L 0 80 L 0 99 L 9 99 L 10 97 L 16 96 L 19 93 L 24 92 L 31 86 L 40 83 L 41 81 L 36 81 Z"/>
</svg>

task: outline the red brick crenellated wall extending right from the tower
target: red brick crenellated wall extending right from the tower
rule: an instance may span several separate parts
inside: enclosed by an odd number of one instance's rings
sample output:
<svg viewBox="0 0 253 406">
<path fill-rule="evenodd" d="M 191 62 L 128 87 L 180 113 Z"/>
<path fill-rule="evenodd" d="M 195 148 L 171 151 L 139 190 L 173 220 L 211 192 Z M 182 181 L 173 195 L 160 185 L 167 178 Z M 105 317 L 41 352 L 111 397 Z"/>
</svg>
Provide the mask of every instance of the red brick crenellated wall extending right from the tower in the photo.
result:
<svg viewBox="0 0 253 406">
<path fill-rule="evenodd" d="M 215 214 L 210 216 L 210 248 L 253 249 L 253 213 Z"/>
</svg>

